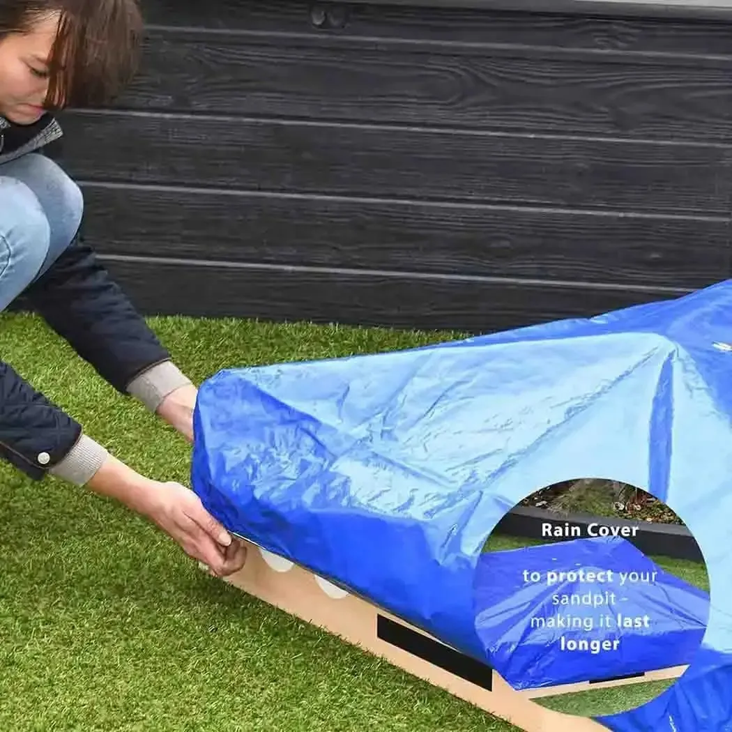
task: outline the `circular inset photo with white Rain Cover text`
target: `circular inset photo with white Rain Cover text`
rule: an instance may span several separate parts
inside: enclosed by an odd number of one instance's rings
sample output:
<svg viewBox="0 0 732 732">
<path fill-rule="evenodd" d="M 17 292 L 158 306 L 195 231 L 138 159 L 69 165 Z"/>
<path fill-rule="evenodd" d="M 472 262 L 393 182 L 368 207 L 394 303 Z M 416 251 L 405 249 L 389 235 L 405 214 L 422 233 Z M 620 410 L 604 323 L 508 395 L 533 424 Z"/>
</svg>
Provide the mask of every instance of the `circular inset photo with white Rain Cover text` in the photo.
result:
<svg viewBox="0 0 732 732">
<path fill-rule="evenodd" d="M 520 501 L 488 537 L 475 628 L 494 673 L 537 704 L 621 714 L 681 677 L 709 616 L 701 549 L 641 488 L 577 479 Z"/>
</svg>

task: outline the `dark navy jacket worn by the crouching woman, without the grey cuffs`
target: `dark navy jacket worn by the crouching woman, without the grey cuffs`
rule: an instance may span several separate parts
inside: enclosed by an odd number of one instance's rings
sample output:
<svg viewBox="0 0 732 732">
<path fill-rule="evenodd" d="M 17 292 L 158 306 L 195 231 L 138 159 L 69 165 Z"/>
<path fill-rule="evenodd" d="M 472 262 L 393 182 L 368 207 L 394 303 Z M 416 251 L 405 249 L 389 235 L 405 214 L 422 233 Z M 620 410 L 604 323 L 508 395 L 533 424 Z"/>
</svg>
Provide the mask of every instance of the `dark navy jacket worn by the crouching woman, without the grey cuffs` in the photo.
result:
<svg viewBox="0 0 732 732">
<path fill-rule="evenodd" d="M 7 130 L 0 124 L 0 138 Z M 58 136 L 56 130 L 56 122 L 47 118 L 26 133 L 31 137 L 14 140 L 13 148 L 31 152 Z M 7 139 L 0 152 L 12 154 Z M 122 394 L 139 373 L 170 359 L 79 235 L 22 298 Z M 0 337 L 0 347 L 1 343 Z M 41 479 L 70 452 L 81 433 L 75 419 L 0 360 L 0 458 Z M 39 462 L 40 455 L 45 464 Z"/>
</svg>

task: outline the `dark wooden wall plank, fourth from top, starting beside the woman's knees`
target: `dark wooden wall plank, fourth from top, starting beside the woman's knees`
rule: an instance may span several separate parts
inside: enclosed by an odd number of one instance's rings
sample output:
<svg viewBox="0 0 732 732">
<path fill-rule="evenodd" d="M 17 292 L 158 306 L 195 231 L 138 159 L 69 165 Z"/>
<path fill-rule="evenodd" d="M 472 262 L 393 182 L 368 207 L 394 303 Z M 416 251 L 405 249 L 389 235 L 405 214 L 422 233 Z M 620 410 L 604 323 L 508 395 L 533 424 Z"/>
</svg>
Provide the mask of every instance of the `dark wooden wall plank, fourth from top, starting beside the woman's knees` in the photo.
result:
<svg viewBox="0 0 732 732">
<path fill-rule="evenodd" d="M 699 288 L 729 221 L 88 184 L 100 253 Z"/>
</svg>

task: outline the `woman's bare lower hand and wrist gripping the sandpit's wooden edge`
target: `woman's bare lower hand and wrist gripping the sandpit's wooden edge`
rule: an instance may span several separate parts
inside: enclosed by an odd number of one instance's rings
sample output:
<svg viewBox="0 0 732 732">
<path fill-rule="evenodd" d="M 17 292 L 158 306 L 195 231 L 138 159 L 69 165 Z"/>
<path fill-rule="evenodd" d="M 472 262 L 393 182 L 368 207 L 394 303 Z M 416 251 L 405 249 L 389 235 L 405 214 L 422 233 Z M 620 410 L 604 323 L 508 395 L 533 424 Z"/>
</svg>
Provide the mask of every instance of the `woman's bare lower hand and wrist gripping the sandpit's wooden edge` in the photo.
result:
<svg viewBox="0 0 732 732">
<path fill-rule="evenodd" d="M 86 485 L 151 520 L 214 575 L 226 577 L 244 566 L 246 546 L 183 485 L 146 478 L 111 455 Z"/>
</svg>

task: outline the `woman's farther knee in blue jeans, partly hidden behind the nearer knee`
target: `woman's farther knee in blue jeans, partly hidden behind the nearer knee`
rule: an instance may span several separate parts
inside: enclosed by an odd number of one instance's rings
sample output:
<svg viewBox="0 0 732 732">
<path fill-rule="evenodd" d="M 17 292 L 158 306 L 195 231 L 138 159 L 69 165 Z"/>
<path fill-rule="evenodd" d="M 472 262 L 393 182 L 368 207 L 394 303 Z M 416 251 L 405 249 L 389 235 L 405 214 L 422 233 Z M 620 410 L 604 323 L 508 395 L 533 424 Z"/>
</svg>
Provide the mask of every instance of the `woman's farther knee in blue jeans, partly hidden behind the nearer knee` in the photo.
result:
<svg viewBox="0 0 732 732">
<path fill-rule="evenodd" d="M 49 157 L 23 155 L 0 166 L 0 175 L 11 176 L 28 186 L 40 202 L 51 228 L 51 259 L 55 260 L 72 242 L 83 217 L 81 188 Z"/>
</svg>

